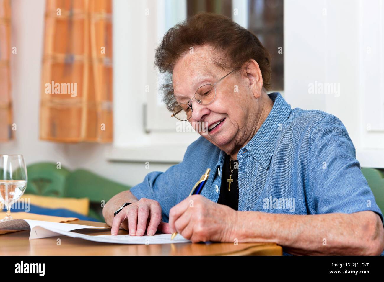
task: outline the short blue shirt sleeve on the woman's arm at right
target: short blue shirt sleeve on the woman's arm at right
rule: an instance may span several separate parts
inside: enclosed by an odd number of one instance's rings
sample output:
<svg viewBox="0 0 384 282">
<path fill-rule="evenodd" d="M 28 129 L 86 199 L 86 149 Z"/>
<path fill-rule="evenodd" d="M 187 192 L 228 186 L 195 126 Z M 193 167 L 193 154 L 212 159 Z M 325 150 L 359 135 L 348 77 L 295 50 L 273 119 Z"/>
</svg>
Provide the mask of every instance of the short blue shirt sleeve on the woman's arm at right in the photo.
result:
<svg viewBox="0 0 384 282">
<path fill-rule="evenodd" d="M 352 140 L 337 117 L 328 115 L 314 128 L 309 165 L 309 200 L 315 213 L 374 211 L 383 220 Z"/>
</svg>

